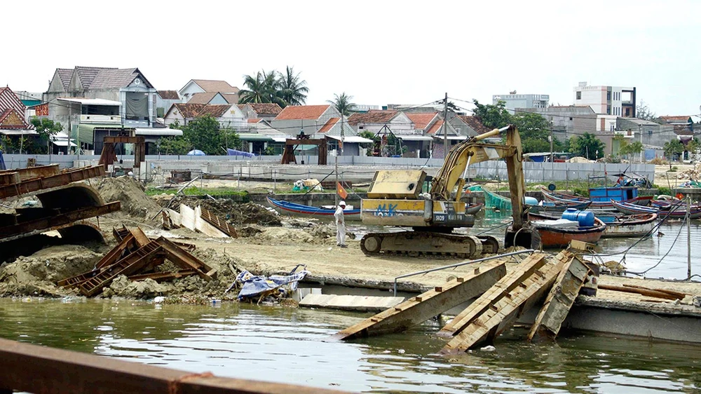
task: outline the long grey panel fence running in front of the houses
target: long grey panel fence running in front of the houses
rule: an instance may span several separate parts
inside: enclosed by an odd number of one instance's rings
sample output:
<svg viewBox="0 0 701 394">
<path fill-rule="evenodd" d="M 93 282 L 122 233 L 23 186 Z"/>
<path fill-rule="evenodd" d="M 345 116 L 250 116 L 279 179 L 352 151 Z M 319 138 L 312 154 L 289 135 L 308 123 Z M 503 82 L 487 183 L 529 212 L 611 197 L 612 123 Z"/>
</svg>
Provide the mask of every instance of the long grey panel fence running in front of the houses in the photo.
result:
<svg viewBox="0 0 701 394">
<path fill-rule="evenodd" d="M 58 163 L 61 168 L 95 165 L 99 156 L 74 155 L 5 155 L 7 168 L 24 168 L 27 158 L 35 158 L 37 165 Z M 132 156 L 118 156 L 125 167 L 133 166 Z M 321 179 L 334 170 L 334 165 L 316 165 L 317 156 L 297 156 L 297 163 L 304 160 L 304 165 L 281 165 L 280 156 L 146 156 L 146 168 L 149 173 L 165 173 L 172 170 L 193 170 L 205 174 L 237 177 L 241 179 L 257 178 L 270 180 L 297 180 L 314 177 Z M 386 158 L 369 156 L 339 156 L 339 172 L 343 179 L 360 182 L 372 179 L 379 168 L 422 168 L 428 175 L 435 172 L 443 160 L 440 158 Z M 633 177 L 646 177 L 655 181 L 655 165 L 651 164 L 604 164 L 604 163 L 536 163 L 524 162 L 526 182 L 552 182 L 587 180 L 590 177 L 608 175 L 615 180 L 614 174 L 625 172 Z M 484 161 L 468 168 L 471 179 L 508 179 L 506 163 L 503 161 Z"/>
</svg>

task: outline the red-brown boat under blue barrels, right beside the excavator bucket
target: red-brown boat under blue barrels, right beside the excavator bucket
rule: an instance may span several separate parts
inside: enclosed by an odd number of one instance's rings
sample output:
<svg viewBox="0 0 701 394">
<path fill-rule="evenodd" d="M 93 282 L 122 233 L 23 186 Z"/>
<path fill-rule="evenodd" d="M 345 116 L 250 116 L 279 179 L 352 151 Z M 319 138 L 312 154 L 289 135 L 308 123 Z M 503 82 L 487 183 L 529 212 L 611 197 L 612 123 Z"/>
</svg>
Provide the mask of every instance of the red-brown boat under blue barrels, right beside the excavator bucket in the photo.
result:
<svg viewBox="0 0 701 394">
<path fill-rule="evenodd" d="M 552 216 L 529 213 L 529 219 L 540 234 L 540 244 L 547 247 L 566 247 L 572 240 L 597 243 L 606 231 L 606 224 L 594 218 L 594 226 L 582 227 L 566 219 L 552 220 Z M 569 222 L 569 223 L 567 223 Z"/>
</svg>

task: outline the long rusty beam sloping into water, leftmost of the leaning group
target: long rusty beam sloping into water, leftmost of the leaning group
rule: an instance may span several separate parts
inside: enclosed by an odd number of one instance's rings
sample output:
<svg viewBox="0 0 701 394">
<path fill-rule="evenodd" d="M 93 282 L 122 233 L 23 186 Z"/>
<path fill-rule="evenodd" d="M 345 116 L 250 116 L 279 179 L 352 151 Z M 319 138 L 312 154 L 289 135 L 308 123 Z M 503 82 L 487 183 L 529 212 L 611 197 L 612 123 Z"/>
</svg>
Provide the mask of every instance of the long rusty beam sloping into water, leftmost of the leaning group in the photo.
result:
<svg viewBox="0 0 701 394">
<path fill-rule="evenodd" d="M 491 262 L 463 278 L 454 278 L 401 304 L 388 308 L 372 318 L 341 330 L 337 339 L 355 339 L 400 332 L 440 315 L 459 304 L 479 297 L 506 275 L 504 263 Z"/>
</svg>

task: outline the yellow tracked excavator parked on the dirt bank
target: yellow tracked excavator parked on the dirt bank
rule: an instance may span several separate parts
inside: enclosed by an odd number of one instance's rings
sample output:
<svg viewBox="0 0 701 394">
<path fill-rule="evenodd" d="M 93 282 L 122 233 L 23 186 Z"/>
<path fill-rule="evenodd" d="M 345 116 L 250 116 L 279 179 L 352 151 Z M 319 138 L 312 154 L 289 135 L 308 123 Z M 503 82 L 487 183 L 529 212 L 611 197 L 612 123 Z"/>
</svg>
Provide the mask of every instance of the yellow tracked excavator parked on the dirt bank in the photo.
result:
<svg viewBox="0 0 701 394">
<path fill-rule="evenodd" d="M 506 133 L 505 144 L 482 142 Z M 465 175 L 470 164 L 488 160 L 506 161 L 511 191 L 513 223 L 506 231 L 505 247 L 537 245 L 536 232 L 524 211 L 524 172 L 521 137 L 514 125 L 494 129 L 456 144 L 431 182 L 423 170 L 379 170 L 375 173 L 367 198 L 361 202 L 363 224 L 411 227 L 411 231 L 367 233 L 360 240 L 365 254 L 440 254 L 477 258 L 496 253 L 499 240 L 492 236 L 471 236 L 454 232 L 472 227 L 474 215 L 465 213 L 460 201 Z M 426 192 L 424 184 L 430 183 Z"/>
</svg>

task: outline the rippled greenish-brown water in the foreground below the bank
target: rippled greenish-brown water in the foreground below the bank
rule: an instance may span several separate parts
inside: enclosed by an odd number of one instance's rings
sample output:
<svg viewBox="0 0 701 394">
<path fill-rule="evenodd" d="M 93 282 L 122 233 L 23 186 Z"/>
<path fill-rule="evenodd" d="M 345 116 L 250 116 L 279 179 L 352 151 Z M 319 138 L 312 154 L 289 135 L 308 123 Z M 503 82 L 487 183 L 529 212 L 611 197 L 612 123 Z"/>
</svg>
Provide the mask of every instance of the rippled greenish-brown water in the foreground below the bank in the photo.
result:
<svg viewBox="0 0 701 394">
<path fill-rule="evenodd" d="M 329 337 L 365 315 L 224 304 L 0 299 L 0 337 L 189 372 L 362 392 L 691 393 L 701 348 L 573 335 L 503 338 L 495 351 L 435 355 L 427 324 L 352 343 Z"/>
</svg>

